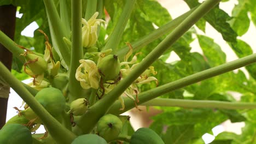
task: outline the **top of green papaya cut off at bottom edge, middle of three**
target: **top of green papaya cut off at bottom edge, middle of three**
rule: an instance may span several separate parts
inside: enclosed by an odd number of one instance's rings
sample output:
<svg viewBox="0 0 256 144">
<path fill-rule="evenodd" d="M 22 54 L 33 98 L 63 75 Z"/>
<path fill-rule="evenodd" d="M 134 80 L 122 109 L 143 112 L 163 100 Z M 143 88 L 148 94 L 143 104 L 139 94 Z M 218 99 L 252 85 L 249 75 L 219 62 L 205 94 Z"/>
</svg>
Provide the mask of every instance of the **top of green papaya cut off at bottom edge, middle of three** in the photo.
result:
<svg viewBox="0 0 256 144">
<path fill-rule="evenodd" d="M 107 144 L 106 140 L 95 134 L 80 135 L 71 144 Z"/>
</svg>

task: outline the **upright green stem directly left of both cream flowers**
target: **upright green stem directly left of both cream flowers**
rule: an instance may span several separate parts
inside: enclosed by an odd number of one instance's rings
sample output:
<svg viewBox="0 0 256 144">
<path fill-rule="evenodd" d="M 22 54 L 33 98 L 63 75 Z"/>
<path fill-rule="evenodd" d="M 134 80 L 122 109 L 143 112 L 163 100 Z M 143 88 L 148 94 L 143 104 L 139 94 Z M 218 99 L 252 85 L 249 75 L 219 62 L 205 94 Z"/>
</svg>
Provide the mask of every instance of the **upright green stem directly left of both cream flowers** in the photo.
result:
<svg viewBox="0 0 256 144">
<path fill-rule="evenodd" d="M 71 93 L 70 100 L 73 101 L 82 97 L 82 87 L 80 82 L 75 79 L 75 72 L 79 67 L 79 60 L 83 59 L 82 45 L 82 0 L 71 2 L 72 9 L 72 53 L 71 67 L 69 73 L 69 91 Z"/>
</svg>

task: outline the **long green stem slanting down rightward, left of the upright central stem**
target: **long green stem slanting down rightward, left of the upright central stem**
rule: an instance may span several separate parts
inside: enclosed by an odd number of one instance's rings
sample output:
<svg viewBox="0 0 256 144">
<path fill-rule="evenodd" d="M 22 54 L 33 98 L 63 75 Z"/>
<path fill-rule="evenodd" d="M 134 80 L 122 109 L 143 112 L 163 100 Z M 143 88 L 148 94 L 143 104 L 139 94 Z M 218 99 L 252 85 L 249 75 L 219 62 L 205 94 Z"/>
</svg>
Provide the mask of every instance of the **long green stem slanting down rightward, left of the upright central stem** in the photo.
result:
<svg viewBox="0 0 256 144">
<path fill-rule="evenodd" d="M 44 5 L 49 21 L 51 35 L 54 38 L 53 42 L 56 43 L 57 46 L 55 47 L 55 49 L 58 49 L 60 51 L 63 60 L 69 67 L 70 51 L 63 41 L 63 37 L 65 37 L 65 32 L 63 31 L 63 25 L 61 23 L 60 16 L 57 12 L 54 1 L 44 0 Z"/>
</svg>

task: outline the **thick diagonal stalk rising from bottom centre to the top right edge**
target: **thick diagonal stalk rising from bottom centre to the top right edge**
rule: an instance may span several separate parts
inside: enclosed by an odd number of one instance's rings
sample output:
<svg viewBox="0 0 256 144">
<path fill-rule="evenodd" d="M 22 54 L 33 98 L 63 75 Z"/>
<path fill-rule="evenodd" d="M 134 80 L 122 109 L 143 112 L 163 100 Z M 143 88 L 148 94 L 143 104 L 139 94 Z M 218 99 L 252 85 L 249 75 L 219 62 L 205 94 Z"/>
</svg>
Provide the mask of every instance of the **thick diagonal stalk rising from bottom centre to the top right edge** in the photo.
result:
<svg viewBox="0 0 256 144">
<path fill-rule="evenodd" d="M 198 21 L 203 15 L 205 15 L 210 9 L 212 9 L 220 0 L 207 0 L 203 2 L 187 19 L 185 19 L 181 25 L 179 25 L 174 31 L 168 35 L 149 55 L 143 59 L 141 63 L 137 65 L 131 73 L 108 94 L 104 95 L 103 98 L 95 103 L 87 113 L 85 113 L 77 122 L 79 127 L 84 133 L 89 133 L 94 128 L 98 119 L 103 116 L 114 103 L 116 99 L 125 91 L 127 87 L 135 81 L 139 75 L 145 71 L 150 64 L 158 59 L 162 53 L 168 49 L 176 40 L 178 40 L 185 32 L 192 27 L 196 21 Z M 88 120 L 90 117 L 90 120 Z"/>
</svg>

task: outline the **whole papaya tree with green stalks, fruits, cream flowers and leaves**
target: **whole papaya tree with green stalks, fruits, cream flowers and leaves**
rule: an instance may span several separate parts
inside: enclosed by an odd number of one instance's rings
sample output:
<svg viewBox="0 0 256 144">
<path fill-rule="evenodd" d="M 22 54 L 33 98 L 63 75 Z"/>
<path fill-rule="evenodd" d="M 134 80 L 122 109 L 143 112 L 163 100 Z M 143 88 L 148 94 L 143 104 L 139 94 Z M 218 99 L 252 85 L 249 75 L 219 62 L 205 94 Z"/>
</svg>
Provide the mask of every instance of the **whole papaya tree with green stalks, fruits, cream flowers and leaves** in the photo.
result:
<svg viewBox="0 0 256 144">
<path fill-rule="evenodd" d="M 24 103 L 0 143 L 204 143 L 227 119 L 245 122 L 242 134 L 223 132 L 213 143 L 253 143 L 256 55 L 240 37 L 256 25 L 256 3 L 238 1 L 229 15 L 219 8 L 226 1 L 184 2 L 190 10 L 172 19 L 153 0 L 1 1 L 23 15 L 14 40 L 0 29 L 13 55 L 11 72 L 1 60 L 0 90 L 6 98 L 13 88 Z M 33 21 L 34 37 L 21 35 Z M 206 24 L 238 59 L 226 62 L 224 48 L 201 34 Z M 191 52 L 194 40 L 202 53 Z M 167 62 L 171 52 L 180 60 Z M 120 114 L 139 105 L 162 113 L 134 131 L 132 117 Z M 45 133 L 32 133 L 40 125 Z"/>
</svg>

